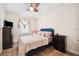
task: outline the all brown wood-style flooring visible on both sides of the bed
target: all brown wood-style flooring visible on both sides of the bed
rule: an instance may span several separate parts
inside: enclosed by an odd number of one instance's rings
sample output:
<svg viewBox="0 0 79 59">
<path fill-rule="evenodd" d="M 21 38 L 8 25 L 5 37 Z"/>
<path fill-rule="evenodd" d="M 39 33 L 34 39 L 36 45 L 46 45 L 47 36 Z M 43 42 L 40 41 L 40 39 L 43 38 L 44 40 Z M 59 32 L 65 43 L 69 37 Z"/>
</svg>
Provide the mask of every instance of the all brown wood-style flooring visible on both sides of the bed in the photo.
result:
<svg viewBox="0 0 79 59">
<path fill-rule="evenodd" d="M 18 56 L 17 52 L 18 52 L 17 48 L 6 49 L 0 54 L 0 56 Z M 53 47 L 49 47 L 42 51 L 39 51 L 33 56 L 76 56 L 76 55 L 70 52 L 62 53 L 54 49 Z"/>
</svg>

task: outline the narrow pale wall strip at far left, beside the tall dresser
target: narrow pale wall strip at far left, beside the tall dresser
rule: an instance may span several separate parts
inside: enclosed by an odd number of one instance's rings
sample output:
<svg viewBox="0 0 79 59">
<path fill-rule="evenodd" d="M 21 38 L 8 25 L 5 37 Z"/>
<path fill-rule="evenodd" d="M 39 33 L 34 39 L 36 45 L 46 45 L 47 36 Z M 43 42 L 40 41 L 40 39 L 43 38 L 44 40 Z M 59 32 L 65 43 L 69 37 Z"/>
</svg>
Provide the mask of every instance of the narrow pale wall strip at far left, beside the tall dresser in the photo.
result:
<svg viewBox="0 0 79 59">
<path fill-rule="evenodd" d="M 2 51 L 2 27 L 3 27 L 3 20 L 5 19 L 5 11 L 2 4 L 0 4 L 0 52 Z"/>
</svg>

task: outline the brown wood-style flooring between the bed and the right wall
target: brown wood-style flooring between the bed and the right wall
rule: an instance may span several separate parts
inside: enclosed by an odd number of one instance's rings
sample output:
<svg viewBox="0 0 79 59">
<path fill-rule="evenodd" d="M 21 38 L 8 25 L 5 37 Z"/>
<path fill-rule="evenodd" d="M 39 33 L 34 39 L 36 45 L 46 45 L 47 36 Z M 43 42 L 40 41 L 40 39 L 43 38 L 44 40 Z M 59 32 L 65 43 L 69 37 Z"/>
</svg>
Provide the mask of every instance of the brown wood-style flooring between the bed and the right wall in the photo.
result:
<svg viewBox="0 0 79 59">
<path fill-rule="evenodd" d="M 34 56 L 76 56 L 76 55 L 70 52 L 62 53 L 54 49 L 53 47 L 49 47 L 45 50 L 38 52 Z"/>
</svg>

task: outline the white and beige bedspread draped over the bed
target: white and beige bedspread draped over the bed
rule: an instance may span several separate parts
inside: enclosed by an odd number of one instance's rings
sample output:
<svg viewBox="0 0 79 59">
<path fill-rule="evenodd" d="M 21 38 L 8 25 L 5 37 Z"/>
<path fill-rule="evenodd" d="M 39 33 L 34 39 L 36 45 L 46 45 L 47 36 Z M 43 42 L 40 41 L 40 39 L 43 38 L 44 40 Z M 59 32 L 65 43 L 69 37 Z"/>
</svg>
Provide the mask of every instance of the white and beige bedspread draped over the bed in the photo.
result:
<svg viewBox="0 0 79 59">
<path fill-rule="evenodd" d="M 19 40 L 19 55 L 24 56 L 31 49 L 47 45 L 48 39 L 38 35 L 21 36 Z"/>
</svg>

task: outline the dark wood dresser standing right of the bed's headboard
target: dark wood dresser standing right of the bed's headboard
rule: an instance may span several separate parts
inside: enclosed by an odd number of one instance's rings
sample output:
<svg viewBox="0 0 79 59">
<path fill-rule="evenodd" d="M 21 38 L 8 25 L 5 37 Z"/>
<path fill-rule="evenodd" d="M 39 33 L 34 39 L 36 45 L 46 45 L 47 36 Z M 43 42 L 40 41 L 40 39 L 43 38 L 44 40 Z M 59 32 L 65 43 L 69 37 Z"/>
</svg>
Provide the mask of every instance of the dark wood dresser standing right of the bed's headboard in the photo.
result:
<svg viewBox="0 0 79 59">
<path fill-rule="evenodd" d="M 61 52 L 66 52 L 66 36 L 55 35 L 54 36 L 54 48 Z"/>
</svg>

